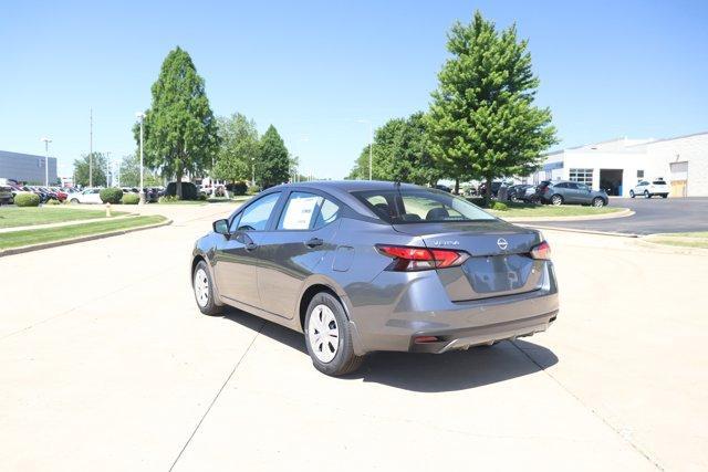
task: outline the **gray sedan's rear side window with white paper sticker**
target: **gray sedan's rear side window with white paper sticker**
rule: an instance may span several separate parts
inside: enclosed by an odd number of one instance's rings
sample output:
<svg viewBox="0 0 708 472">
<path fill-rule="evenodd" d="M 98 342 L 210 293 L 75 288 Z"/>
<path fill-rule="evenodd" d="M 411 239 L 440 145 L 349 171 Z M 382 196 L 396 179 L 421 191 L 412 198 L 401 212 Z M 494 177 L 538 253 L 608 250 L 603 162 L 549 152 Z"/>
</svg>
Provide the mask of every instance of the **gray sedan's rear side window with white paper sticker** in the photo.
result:
<svg viewBox="0 0 708 472">
<path fill-rule="evenodd" d="M 314 193 L 290 193 L 278 222 L 279 230 L 315 230 L 336 220 L 340 207 Z"/>
</svg>

